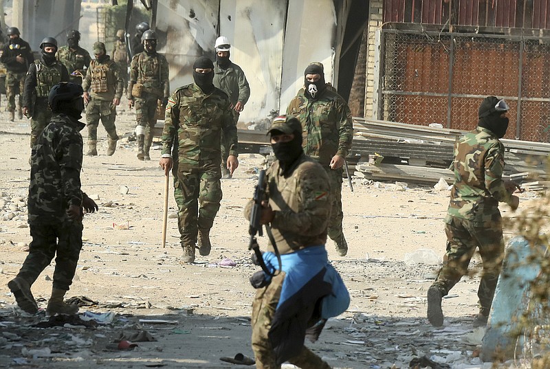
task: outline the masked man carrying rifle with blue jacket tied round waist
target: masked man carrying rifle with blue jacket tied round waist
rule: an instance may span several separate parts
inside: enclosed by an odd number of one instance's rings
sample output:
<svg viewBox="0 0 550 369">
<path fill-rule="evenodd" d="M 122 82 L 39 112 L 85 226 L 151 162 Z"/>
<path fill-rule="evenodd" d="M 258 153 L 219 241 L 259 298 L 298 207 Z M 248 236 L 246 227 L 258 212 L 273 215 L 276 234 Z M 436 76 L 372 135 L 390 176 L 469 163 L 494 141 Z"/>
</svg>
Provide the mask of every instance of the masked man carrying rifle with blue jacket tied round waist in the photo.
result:
<svg viewBox="0 0 550 369">
<path fill-rule="evenodd" d="M 278 369 L 289 361 L 303 369 L 329 369 L 305 345 L 315 342 L 329 317 L 349 306 L 349 293 L 338 272 L 329 264 L 327 226 L 331 192 L 327 172 L 305 155 L 302 126 L 289 115 L 272 122 L 268 134 L 276 161 L 265 173 L 265 201 L 260 223 L 269 224 L 281 255 L 281 271 L 254 274 L 257 289 L 252 303 L 252 349 L 256 368 Z M 245 208 L 250 219 L 254 205 Z M 270 241 L 263 260 L 271 272 L 279 268 Z"/>
</svg>

